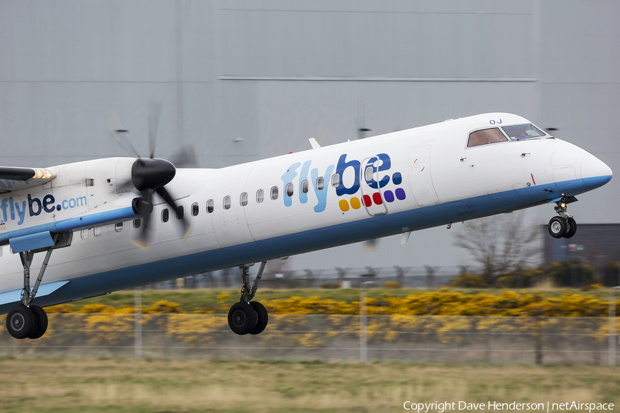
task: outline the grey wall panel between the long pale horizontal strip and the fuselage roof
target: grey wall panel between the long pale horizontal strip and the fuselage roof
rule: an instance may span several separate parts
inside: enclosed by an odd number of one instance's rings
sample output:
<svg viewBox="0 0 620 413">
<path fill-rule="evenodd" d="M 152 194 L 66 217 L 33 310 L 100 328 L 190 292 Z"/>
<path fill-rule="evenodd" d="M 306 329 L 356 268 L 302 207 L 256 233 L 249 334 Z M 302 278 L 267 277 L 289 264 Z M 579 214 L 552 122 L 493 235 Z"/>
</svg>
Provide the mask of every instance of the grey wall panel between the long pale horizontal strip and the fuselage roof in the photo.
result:
<svg viewBox="0 0 620 413">
<path fill-rule="evenodd" d="M 374 136 L 493 110 L 535 115 L 535 83 L 226 81 L 223 91 L 223 154 L 254 145 L 258 158 L 309 149 L 308 138 L 358 139 L 359 121 Z"/>
</svg>

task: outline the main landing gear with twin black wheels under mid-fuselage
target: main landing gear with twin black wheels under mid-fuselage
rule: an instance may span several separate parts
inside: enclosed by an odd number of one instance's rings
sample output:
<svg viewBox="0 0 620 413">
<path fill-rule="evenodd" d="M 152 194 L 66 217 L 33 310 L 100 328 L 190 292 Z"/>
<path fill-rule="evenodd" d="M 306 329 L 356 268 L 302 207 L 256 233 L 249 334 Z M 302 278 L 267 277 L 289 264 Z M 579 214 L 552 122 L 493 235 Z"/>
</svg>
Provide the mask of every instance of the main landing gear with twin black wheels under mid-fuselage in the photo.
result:
<svg viewBox="0 0 620 413">
<path fill-rule="evenodd" d="M 233 304 L 228 311 L 228 326 L 238 335 L 260 334 L 267 327 L 267 321 L 269 321 L 267 309 L 258 301 L 251 301 L 256 295 L 256 290 L 258 290 L 258 282 L 262 277 L 262 271 L 265 270 L 265 264 L 267 264 L 265 261 L 260 263 L 254 285 L 251 287 L 249 285 L 249 267 L 254 264 L 239 267 L 243 279 L 241 299 L 238 303 Z"/>
</svg>

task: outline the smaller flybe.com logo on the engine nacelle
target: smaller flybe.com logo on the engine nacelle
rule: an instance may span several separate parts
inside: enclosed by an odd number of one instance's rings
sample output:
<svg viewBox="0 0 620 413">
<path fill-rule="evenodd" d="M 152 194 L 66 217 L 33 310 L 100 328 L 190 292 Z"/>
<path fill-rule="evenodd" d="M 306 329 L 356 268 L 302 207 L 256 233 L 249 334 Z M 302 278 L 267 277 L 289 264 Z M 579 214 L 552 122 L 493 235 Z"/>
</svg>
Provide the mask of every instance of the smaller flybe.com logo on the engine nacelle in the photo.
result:
<svg viewBox="0 0 620 413">
<path fill-rule="evenodd" d="M 68 200 L 59 201 L 56 204 L 54 195 L 45 195 L 43 200 L 39 198 L 32 198 L 30 193 L 28 194 L 28 202 L 25 200 L 19 203 L 14 200 L 13 197 L 3 198 L 0 201 L 0 224 L 17 220 L 17 225 L 23 224 L 25 219 L 26 209 L 28 209 L 28 215 L 31 217 L 41 215 L 42 212 L 52 213 L 54 211 L 61 211 L 62 209 L 72 209 L 75 207 L 83 207 L 86 205 L 86 197 L 81 196 L 79 198 L 70 198 Z"/>
</svg>

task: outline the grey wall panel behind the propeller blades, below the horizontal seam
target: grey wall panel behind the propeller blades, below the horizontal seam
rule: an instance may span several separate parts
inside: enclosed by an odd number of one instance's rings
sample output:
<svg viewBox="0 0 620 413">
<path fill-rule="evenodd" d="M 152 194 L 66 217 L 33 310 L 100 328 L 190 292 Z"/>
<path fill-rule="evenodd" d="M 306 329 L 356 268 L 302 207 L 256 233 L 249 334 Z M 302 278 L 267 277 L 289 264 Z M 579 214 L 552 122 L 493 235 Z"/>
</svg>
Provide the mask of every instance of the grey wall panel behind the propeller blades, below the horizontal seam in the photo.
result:
<svg viewBox="0 0 620 413">
<path fill-rule="evenodd" d="M 21 142 L 3 152 L 10 156 L 3 157 L 1 165 L 47 166 L 127 156 L 107 130 L 112 109 L 129 129 L 136 149 L 148 153 L 147 101 L 152 96 L 163 100 L 158 156 L 172 155 L 183 135 L 200 153 L 214 153 L 209 137 L 214 129 L 213 83 L 0 82 L 0 136 L 3 142 Z"/>
</svg>

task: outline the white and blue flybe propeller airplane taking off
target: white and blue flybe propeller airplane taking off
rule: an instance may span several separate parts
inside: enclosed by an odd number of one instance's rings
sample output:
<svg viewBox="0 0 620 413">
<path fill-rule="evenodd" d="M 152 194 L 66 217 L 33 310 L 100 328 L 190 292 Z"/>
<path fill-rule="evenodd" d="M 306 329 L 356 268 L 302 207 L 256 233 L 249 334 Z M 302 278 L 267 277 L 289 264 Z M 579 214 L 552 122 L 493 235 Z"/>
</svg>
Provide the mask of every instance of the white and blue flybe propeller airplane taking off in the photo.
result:
<svg viewBox="0 0 620 413">
<path fill-rule="evenodd" d="M 126 131 L 114 131 L 138 158 Z M 311 144 L 222 169 L 176 169 L 152 150 L 0 167 L 0 314 L 10 335 L 41 337 L 44 306 L 231 266 L 242 293 L 229 326 L 258 334 L 267 310 L 251 300 L 267 260 L 398 233 L 404 244 L 411 231 L 540 204 L 555 204 L 550 235 L 572 237 L 566 205 L 612 178 L 595 156 L 514 114 Z"/>
</svg>

